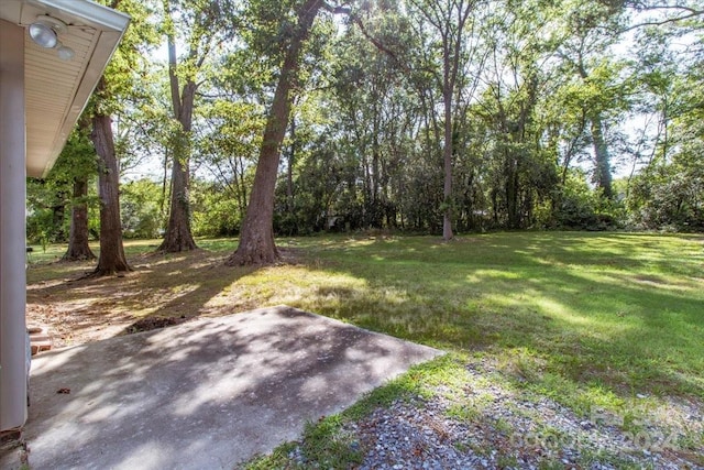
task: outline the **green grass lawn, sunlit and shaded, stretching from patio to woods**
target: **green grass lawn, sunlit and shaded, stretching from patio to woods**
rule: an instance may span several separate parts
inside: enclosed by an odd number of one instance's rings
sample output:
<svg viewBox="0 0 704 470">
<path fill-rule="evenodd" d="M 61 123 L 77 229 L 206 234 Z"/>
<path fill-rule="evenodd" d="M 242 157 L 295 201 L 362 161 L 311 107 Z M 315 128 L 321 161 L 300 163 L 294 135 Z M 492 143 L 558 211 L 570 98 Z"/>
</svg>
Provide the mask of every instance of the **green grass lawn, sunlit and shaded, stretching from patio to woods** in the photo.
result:
<svg viewBox="0 0 704 470">
<path fill-rule="evenodd" d="M 296 263 L 233 269 L 217 295 L 199 302 L 288 304 L 450 352 L 411 372 L 403 390 L 446 383 L 462 400 L 463 368 L 490 360 L 499 371 L 490 379 L 502 386 L 527 400 L 548 396 L 582 415 L 594 407 L 620 416 L 667 414 L 672 398 L 704 398 L 702 236 L 522 232 L 450 243 L 362 236 L 277 242 Z M 199 244 L 224 256 L 235 241 Z M 154 245 L 127 248 L 136 255 Z M 56 253 L 33 255 L 41 261 Z M 392 385 L 375 396 L 387 392 L 402 393 Z M 703 437 L 690 433 L 684 445 L 701 449 Z"/>
</svg>

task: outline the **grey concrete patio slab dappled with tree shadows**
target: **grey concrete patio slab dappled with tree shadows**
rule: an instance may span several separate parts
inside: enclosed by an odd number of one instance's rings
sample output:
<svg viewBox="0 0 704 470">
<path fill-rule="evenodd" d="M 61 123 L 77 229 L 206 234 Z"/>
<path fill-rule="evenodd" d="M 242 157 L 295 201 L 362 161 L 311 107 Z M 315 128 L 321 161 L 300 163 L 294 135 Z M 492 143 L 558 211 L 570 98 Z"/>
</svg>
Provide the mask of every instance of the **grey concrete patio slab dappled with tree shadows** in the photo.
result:
<svg viewBox="0 0 704 470">
<path fill-rule="evenodd" d="M 32 364 L 29 463 L 234 469 L 441 353 L 285 306 L 51 351 Z"/>
</svg>

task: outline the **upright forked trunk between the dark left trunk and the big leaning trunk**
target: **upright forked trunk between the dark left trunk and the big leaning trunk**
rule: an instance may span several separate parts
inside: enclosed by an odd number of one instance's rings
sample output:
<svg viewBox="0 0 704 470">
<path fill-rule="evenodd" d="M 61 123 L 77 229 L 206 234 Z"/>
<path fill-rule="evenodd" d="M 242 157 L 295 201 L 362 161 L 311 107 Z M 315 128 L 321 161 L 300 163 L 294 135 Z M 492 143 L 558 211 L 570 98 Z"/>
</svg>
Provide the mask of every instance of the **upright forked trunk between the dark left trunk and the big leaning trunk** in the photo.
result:
<svg viewBox="0 0 704 470">
<path fill-rule="evenodd" d="M 179 90 L 178 76 L 176 74 L 176 44 L 173 35 L 168 36 L 168 78 L 174 117 L 178 120 L 180 129 L 172 141 L 174 162 L 172 165 L 172 197 L 168 225 L 166 233 L 164 233 L 164 241 L 156 251 L 176 253 L 198 248 L 190 232 L 190 198 L 188 193 L 190 130 L 197 86 L 193 79 L 188 79 L 183 91 Z"/>
</svg>

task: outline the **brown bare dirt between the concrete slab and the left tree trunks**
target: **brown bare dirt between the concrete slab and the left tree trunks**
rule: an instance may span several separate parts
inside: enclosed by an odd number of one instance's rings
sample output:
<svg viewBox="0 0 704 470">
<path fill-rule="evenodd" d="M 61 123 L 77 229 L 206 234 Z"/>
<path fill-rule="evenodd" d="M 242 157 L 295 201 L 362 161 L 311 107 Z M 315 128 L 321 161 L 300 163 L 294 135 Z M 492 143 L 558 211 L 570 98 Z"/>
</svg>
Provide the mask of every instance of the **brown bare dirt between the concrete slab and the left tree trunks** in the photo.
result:
<svg viewBox="0 0 704 470">
<path fill-rule="evenodd" d="M 84 275 L 91 262 L 30 266 L 28 325 L 48 327 L 54 347 L 61 348 L 256 307 L 208 305 L 252 271 L 226 266 L 219 253 L 148 253 L 129 261 L 133 272 L 106 277 Z"/>
</svg>

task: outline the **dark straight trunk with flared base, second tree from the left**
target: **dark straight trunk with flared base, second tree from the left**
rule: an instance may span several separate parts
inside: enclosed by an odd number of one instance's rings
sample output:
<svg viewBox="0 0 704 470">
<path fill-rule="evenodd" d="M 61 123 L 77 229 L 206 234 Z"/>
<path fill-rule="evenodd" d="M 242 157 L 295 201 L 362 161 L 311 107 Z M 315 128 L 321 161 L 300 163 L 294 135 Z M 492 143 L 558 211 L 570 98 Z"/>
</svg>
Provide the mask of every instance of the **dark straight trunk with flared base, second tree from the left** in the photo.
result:
<svg viewBox="0 0 704 470">
<path fill-rule="evenodd" d="M 105 78 L 100 79 L 98 90 L 105 90 Z M 94 275 L 101 276 L 132 271 L 124 256 L 122 245 L 118 192 L 120 177 L 112 138 L 112 119 L 109 116 L 96 113 L 92 117 L 90 138 L 99 157 L 98 197 L 100 198 L 100 255 Z"/>
</svg>

